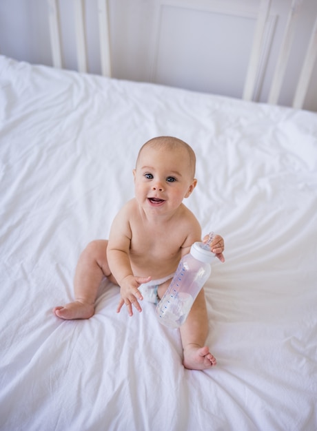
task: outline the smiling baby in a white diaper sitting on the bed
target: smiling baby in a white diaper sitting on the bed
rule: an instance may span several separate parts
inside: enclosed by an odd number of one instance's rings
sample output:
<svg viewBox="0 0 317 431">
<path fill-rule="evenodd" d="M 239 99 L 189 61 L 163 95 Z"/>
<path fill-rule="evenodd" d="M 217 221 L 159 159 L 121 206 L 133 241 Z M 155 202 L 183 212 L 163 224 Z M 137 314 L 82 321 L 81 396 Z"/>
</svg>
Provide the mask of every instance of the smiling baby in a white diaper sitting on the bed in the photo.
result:
<svg viewBox="0 0 317 431">
<path fill-rule="evenodd" d="M 125 305 L 132 316 L 134 309 L 142 311 L 143 295 L 152 302 L 164 295 L 181 257 L 201 241 L 201 226 L 183 204 L 196 187 L 195 165 L 194 151 L 178 138 L 161 136 L 141 147 L 133 170 L 135 198 L 114 218 L 109 240 L 90 242 L 81 253 L 74 277 L 75 301 L 55 307 L 57 317 L 89 319 L 94 315 L 105 276 L 120 286 L 118 313 Z M 220 235 L 215 235 L 210 249 L 225 261 Z M 203 370 L 216 365 L 205 346 L 208 319 L 203 289 L 180 330 L 185 368 Z"/>
</svg>

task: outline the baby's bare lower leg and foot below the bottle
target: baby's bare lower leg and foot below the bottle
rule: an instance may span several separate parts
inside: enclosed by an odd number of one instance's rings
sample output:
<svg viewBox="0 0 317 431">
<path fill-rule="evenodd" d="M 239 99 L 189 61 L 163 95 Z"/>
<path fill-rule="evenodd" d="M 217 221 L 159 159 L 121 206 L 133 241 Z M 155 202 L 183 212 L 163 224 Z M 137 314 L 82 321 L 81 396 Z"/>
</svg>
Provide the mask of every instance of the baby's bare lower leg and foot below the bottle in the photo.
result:
<svg viewBox="0 0 317 431">
<path fill-rule="evenodd" d="M 205 346 L 208 335 L 208 318 L 205 293 L 201 289 L 185 323 L 181 326 L 185 368 L 205 370 L 216 365 L 216 358 Z"/>
</svg>

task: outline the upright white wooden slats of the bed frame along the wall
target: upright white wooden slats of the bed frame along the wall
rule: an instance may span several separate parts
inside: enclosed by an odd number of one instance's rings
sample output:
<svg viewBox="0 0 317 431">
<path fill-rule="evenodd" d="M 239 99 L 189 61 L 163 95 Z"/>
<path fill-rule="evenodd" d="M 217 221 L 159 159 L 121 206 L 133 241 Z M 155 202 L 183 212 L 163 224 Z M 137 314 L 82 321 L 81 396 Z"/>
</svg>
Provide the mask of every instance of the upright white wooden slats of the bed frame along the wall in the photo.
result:
<svg viewBox="0 0 317 431">
<path fill-rule="evenodd" d="M 110 49 L 110 26 L 108 16 L 108 1 L 98 1 L 99 14 L 99 43 L 100 43 L 100 60 L 101 72 L 103 76 L 112 76 L 111 72 L 111 49 Z M 85 17 L 83 0 L 73 0 L 74 2 L 74 23 L 76 32 L 76 52 L 77 52 L 77 69 L 79 72 L 88 72 L 88 54 L 85 35 Z M 161 0 L 159 9 L 162 6 L 173 5 L 172 0 Z M 292 0 L 289 6 L 287 24 L 285 25 L 283 41 L 280 46 L 278 60 L 275 66 L 274 76 L 272 78 L 271 87 L 267 103 L 276 105 L 283 84 L 283 78 L 287 70 L 287 61 L 289 52 L 292 48 L 294 39 L 294 27 L 296 19 L 301 10 L 301 0 Z M 52 63 L 54 67 L 63 67 L 63 55 L 61 44 L 60 17 L 58 0 L 48 0 L 49 4 L 49 22 L 50 22 L 50 43 L 52 47 Z M 263 49 L 263 39 L 265 34 L 265 25 L 269 18 L 269 8 L 271 0 L 261 0 L 260 6 L 252 6 L 248 10 L 244 10 L 245 14 L 253 14 L 256 16 L 256 30 L 254 32 L 254 41 L 252 52 L 249 57 L 249 65 L 245 84 L 243 89 L 243 99 L 246 101 L 254 101 L 254 92 L 256 87 L 256 79 L 260 65 L 260 53 Z M 184 6 L 190 8 L 191 6 Z M 201 8 L 200 8 L 201 9 Z M 218 11 L 219 8 L 217 8 Z M 244 8 L 245 9 L 245 8 Z M 206 6 L 203 10 L 212 10 L 212 6 L 208 9 Z M 311 32 L 311 38 L 305 54 L 305 61 L 298 78 L 296 91 L 292 106 L 294 108 L 303 108 L 305 96 L 307 94 L 309 81 L 313 72 L 314 63 L 317 57 L 317 19 L 314 23 L 314 28 Z"/>
</svg>

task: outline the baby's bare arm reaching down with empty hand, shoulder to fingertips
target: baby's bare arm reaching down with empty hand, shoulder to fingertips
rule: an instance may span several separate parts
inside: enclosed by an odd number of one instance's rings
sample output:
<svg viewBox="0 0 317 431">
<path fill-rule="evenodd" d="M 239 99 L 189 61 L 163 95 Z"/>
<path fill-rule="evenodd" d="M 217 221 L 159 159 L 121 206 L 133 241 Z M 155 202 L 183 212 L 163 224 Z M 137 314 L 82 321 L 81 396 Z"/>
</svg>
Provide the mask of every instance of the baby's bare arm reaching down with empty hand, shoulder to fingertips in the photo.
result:
<svg viewBox="0 0 317 431">
<path fill-rule="evenodd" d="M 110 230 L 107 257 L 110 271 L 120 286 L 121 298 L 116 312 L 119 313 L 125 304 L 127 313 L 132 316 L 132 304 L 137 311 L 142 311 L 138 299 L 142 300 L 143 297 L 138 288 L 140 284 L 149 282 L 151 277 L 134 277 L 133 275 L 129 257 L 132 233 L 128 214 L 129 209 L 125 206 L 114 218 Z"/>
</svg>

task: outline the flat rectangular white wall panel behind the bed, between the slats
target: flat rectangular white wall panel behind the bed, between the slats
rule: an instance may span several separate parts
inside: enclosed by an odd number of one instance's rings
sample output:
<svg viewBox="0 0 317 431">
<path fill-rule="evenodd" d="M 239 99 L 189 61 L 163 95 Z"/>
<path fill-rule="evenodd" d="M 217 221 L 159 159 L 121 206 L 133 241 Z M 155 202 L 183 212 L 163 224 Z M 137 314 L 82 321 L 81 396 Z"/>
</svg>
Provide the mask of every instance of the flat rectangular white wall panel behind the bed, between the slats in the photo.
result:
<svg viewBox="0 0 317 431">
<path fill-rule="evenodd" d="M 168 5 L 161 9 L 152 81 L 241 97 L 255 18 Z"/>
</svg>

